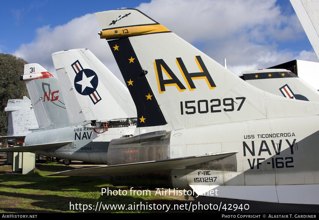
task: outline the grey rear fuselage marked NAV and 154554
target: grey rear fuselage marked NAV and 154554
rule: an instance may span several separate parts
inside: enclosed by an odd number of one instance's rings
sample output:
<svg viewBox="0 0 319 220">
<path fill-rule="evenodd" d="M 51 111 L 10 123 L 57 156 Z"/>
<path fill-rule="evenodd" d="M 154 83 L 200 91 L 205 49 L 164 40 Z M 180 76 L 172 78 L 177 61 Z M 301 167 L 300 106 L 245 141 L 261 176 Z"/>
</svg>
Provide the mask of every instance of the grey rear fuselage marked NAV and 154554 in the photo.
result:
<svg viewBox="0 0 319 220">
<path fill-rule="evenodd" d="M 107 164 L 109 141 L 122 137 L 130 129 L 132 129 L 131 126 L 108 128 L 108 131 L 100 134 L 94 132 L 93 129 L 84 127 L 51 129 L 29 133 L 25 138 L 25 145 L 73 141 L 60 148 L 51 148 L 33 153 L 88 163 Z"/>
</svg>

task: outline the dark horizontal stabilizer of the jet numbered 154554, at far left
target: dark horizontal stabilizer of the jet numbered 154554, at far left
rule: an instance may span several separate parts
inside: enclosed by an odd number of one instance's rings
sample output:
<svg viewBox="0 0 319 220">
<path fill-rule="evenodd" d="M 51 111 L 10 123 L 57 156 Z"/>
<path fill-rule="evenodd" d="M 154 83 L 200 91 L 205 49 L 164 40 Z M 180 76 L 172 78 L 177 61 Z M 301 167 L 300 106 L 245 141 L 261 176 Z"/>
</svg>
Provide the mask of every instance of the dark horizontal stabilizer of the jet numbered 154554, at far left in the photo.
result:
<svg viewBox="0 0 319 220">
<path fill-rule="evenodd" d="M 12 147 L 12 148 L 1 148 L 1 151 L 2 152 L 34 152 L 38 150 L 46 150 L 50 148 L 63 147 L 70 143 L 72 143 L 72 141 L 50 143 L 50 144 L 37 144 L 37 145 Z"/>
</svg>

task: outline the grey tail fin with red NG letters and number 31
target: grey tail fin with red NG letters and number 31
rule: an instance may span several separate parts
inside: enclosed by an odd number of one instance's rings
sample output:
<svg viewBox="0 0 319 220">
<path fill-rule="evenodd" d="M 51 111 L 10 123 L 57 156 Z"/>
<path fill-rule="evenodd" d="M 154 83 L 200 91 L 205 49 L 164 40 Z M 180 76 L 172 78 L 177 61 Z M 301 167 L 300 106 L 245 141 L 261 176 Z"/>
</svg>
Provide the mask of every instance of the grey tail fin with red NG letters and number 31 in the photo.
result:
<svg viewBox="0 0 319 220">
<path fill-rule="evenodd" d="M 26 64 L 20 80 L 26 82 L 39 127 L 70 126 L 59 80 L 39 64 Z"/>
</svg>

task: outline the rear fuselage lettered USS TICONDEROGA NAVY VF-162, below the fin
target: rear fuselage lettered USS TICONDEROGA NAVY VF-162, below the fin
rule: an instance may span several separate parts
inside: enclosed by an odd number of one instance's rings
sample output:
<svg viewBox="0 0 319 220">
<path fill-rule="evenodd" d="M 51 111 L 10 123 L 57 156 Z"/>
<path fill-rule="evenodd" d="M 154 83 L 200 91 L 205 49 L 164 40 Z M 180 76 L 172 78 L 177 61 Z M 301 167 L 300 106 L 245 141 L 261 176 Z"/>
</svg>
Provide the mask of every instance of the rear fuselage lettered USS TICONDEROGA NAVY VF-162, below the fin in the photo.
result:
<svg viewBox="0 0 319 220">
<path fill-rule="evenodd" d="M 180 169 L 126 178 L 115 176 L 112 182 L 115 185 L 194 189 L 203 195 L 218 189 L 220 197 L 318 204 L 318 198 L 308 195 L 311 190 L 319 189 L 316 181 L 319 176 L 318 130 L 317 115 L 184 128 L 167 132 L 166 138 L 139 144 L 116 145 L 119 139 L 112 140 L 108 163 L 138 163 L 239 151 L 233 156 Z M 143 182 L 145 178 L 148 180 Z M 289 199 L 287 194 L 290 193 L 298 193 L 299 201 L 295 201 L 294 196 Z"/>
</svg>

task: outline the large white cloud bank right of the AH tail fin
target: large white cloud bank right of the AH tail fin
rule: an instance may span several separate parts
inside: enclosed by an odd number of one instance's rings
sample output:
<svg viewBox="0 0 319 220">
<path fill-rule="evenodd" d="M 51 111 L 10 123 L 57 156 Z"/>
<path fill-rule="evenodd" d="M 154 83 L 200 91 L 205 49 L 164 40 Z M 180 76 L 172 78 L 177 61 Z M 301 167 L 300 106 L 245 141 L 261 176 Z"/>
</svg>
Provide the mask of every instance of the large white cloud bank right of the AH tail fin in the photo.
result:
<svg viewBox="0 0 319 220">
<path fill-rule="evenodd" d="M 293 13 L 283 15 L 275 0 L 156 0 L 137 9 L 239 75 L 242 70 L 262 69 L 302 57 L 311 51 L 278 50 L 278 44 L 303 38 Z M 307 52 L 307 53 L 306 53 Z M 299 54 L 300 53 L 300 54 Z M 243 68 L 243 69 L 241 69 Z"/>
</svg>

